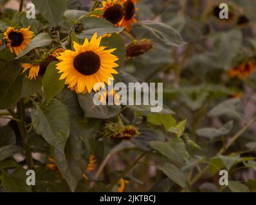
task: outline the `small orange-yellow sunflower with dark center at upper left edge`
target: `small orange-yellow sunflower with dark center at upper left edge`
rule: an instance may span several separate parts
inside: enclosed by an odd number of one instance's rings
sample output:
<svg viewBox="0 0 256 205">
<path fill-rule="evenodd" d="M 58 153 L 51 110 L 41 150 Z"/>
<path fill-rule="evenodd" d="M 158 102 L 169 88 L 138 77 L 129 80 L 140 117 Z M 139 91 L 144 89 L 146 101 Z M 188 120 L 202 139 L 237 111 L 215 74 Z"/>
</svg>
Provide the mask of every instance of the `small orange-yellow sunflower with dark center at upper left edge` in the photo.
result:
<svg viewBox="0 0 256 205">
<path fill-rule="evenodd" d="M 10 48 L 12 53 L 19 55 L 27 45 L 30 43 L 33 37 L 33 31 L 30 31 L 30 26 L 28 28 L 15 29 L 9 27 L 5 33 L 5 40 L 7 41 L 7 46 Z"/>
</svg>

